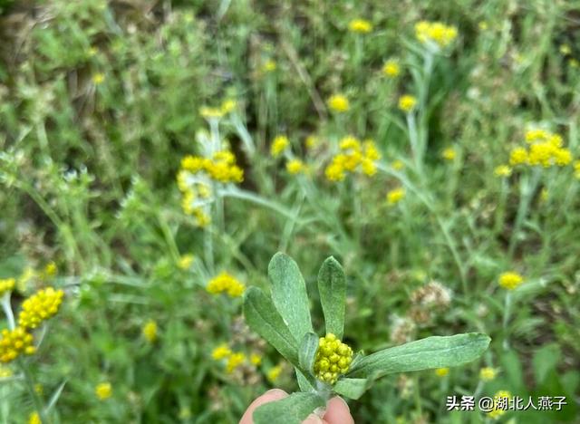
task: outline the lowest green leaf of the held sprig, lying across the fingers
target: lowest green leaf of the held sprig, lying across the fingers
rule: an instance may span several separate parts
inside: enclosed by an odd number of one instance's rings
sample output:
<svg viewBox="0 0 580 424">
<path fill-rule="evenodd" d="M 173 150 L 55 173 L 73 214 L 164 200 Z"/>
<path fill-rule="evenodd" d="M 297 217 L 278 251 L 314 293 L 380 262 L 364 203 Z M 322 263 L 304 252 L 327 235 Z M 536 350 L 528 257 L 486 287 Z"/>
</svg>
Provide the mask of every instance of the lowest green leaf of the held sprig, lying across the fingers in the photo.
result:
<svg viewBox="0 0 580 424">
<path fill-rule="evenodd" d="M 324 405 L 324 399 L 315 393 L 293 393 L 258 407 L 253 414 L 254 424 L 301 424 L 316 408 Z"/>
</svg>

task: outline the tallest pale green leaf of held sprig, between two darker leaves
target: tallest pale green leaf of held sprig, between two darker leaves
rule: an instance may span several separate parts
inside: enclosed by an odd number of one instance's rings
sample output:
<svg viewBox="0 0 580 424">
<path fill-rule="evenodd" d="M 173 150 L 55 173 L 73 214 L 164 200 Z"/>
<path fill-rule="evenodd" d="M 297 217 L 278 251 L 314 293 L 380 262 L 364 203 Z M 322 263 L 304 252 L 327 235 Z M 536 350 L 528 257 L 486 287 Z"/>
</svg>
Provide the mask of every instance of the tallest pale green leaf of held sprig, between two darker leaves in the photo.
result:
<svg viewBox="0 0 580 424">
<path fill-rule="evenodd" d="M 268 265 L 272 284 L 272 300 L 284 318 L 295 340 L 302 340 L 306 332 L 313 332 L 306 284 L 295 261 L 278 252 Z"/>
</svg>

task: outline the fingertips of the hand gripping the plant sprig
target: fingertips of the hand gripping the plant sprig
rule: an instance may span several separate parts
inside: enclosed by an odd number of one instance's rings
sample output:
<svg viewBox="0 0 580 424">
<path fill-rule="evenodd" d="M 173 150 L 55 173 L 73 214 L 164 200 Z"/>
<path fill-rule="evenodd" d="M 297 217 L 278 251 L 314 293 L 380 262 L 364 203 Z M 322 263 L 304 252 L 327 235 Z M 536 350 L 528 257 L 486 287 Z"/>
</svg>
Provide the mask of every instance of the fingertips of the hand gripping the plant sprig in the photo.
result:
<svg viewBox="0 0 580 424">
<path fill-rule="evenodd" d="M 254 424 L 252 414 L 257 407 L 268 402 L 284 399 L 286 396 L 288 396 L 288 393 L 284 390 L 273 389 L 266 391 L 266 393 L 259 398 L 256 398 L 256 400 L 247 407 L 247 410 L 242 419 L 240 419 L 239 424 Z M 324 412 L 324 417 L 322 419 L 316 414 L 310 414 L 308 418 L 303 421 L 303 424 L 354 424 L 354 419 L 346 402 L 342 398 L 336 396 L 326 404 L 326 412 Z"/>
</svg>

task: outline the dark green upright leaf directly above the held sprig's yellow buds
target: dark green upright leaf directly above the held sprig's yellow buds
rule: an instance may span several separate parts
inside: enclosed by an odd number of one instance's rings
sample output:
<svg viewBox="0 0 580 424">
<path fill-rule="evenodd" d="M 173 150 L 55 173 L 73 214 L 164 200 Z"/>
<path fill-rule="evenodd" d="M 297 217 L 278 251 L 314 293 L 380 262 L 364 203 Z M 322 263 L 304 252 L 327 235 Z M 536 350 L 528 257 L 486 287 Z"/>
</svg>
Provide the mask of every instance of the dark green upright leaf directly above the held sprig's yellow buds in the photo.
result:
<svg viewBox="0 0 580 424">
<path fill-rule="evenodd" d="M 330 256 L 318 272 L 318 292 L 323 306 L 326 332 L 343 339 L 346 277 L 343 267 Z"/>
</svg>

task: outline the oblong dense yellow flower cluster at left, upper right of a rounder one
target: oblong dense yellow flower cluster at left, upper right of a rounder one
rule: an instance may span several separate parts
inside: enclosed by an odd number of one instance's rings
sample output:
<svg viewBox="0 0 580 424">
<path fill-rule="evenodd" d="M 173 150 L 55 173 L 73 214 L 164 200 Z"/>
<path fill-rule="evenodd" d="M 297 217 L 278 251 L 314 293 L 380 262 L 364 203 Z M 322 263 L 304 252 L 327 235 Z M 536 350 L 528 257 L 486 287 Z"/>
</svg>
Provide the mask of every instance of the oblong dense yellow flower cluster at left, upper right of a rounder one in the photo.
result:
<svg viewBox="0 0 580 424">
<path fill-rule="evenodd" d="M 53 317 L 63 303 L 64 292 L 47 287 L 33 294 L 22 304 L 18 323 L 26 329 L 34 329 L 45 320 Z"/>
</svg>

